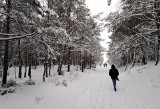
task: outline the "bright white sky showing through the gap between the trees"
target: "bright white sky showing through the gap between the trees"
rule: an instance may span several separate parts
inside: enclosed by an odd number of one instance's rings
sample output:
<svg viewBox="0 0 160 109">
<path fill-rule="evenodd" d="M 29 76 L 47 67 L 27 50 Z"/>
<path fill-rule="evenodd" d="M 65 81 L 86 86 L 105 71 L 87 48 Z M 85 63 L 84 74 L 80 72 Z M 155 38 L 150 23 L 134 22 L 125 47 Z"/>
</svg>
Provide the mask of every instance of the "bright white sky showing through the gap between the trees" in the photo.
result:
<svg viewBox="0 0 160 109">
<path fill-rule="evenodd" d="M 103 12 L 104 13 L 103 17 L 105 17 L 110 12 L 114 12 L 120 9 L 120 1 L 121 0 L 112 0 L 110 6 L 108 6 L 108 0 L 86 0 L 86 4 L 88 8 L 90 9 L 90 12 L 92 15 L 96 15 L 98 13 Z M 106 44 L 106 42 L 109 41 L 108 35 L 109 34 L 107 30 L 104 30 L 101 33 L 101 37 L 102 39 L 104 39 L 104 41 L 101 42 L 101 45 L 106 49 L 108 48 L 108 45 Z"/>
</svg>

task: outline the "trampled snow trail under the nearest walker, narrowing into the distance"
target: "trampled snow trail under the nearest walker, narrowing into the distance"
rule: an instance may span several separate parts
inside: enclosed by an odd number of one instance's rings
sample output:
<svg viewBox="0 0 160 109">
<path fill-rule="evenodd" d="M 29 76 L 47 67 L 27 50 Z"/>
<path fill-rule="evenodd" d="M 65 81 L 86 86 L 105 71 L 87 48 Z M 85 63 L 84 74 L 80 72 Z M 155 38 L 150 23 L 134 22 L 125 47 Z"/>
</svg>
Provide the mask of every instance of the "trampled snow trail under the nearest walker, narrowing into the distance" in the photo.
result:
<svg viewBox="0 0 160 109">
<path fill-rule="evenodd" d="M 89 74 L 90 84 L 84 88 L 78 104 L 70 109 L 150 109 L 137 99 L 136 93 L 128 89 L 123 80 L 117 82 L 115 92 L 108 72 L 109 69 L 98 67 L 96 73 Z"/>
</svg>

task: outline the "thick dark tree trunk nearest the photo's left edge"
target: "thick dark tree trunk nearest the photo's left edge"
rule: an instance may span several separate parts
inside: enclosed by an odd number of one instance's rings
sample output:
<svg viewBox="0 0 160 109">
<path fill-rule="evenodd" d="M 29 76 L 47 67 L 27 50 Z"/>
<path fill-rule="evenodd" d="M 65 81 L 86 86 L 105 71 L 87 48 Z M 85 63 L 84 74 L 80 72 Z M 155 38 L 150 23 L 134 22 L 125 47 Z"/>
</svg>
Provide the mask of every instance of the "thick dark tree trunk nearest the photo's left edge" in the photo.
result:
<svg viewBox="0 0 160 109">
<path fill-rule="evenodd" d="M 6 0 L 6 8 L 7 8 L 7 17 L 6 17 L 6 33 L 10 31 L 10 10 L 11 10 L 11 0 Z M 9 41 L 6 40 L 5 43 L 5 53 L 4 53 L 4 68 L 3 68 L 3 79 L 2 79 L 2 86 L 5 86 L 7 83 L 7 71 L 8 71 L 8 44 Z"/>
</svg>

